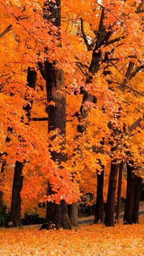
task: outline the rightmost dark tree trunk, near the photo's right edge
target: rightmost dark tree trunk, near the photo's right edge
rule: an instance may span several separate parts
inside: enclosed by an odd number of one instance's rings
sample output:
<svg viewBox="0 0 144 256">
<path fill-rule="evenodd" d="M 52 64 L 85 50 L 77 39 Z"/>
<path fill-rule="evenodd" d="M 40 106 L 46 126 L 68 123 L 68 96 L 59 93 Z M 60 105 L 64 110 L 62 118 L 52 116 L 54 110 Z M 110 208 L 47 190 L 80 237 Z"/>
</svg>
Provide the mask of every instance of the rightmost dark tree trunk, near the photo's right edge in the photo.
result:
<svg viewBox="0 0 144 256">
<path fill-rule="evenodd" d="M 139 224 L 140 194 L 142 189 L 142 178 L 135 175 L 134 209 L 132 223 Z"/>
</svg>

